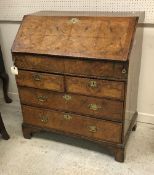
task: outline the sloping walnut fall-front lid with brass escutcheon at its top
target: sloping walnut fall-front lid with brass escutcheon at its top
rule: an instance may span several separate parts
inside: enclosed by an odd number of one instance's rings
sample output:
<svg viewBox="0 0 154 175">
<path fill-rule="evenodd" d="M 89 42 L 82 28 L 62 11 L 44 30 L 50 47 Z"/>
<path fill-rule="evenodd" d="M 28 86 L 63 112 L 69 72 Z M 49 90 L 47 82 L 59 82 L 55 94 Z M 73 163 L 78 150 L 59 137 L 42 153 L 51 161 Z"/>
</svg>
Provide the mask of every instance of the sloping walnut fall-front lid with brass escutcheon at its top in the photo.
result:
<svg viewBox="0 0 154 175">
<path fill-rule="evenodd" d="M 137 19 L 27 15 L 12 52 L 126 61 Z"/>
</svg>

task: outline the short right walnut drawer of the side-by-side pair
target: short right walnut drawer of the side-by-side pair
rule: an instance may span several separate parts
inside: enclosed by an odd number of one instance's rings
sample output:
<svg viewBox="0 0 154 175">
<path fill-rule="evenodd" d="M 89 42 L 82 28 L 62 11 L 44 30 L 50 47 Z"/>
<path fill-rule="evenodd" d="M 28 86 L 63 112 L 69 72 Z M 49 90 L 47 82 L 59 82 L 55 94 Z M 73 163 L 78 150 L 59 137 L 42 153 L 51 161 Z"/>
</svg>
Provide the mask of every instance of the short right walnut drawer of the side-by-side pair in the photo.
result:
<svg viewBox="0 0 154 175">
<path fill-rule="evenodd" d="M 68 93 L 124 100 L 124 82 L 66 77 Z"/>
</svg>

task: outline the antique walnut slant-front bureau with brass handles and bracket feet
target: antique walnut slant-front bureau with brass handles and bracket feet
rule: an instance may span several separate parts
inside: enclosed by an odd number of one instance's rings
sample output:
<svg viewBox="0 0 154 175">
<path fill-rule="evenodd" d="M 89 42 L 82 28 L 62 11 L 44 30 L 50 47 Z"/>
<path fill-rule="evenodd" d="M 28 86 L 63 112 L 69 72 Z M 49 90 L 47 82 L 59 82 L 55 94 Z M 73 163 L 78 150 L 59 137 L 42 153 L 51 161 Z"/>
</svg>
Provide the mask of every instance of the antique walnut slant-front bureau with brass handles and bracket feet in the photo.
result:
<svg viewBox="0 0 154 175">
<path fill-rule="evenodd" d="M 42 130 L 84 138 L 124 161 L 136 129 L 137 23 L 138 17 L 24 16 L 12 55 L 25 138 Z"/>
</svg>

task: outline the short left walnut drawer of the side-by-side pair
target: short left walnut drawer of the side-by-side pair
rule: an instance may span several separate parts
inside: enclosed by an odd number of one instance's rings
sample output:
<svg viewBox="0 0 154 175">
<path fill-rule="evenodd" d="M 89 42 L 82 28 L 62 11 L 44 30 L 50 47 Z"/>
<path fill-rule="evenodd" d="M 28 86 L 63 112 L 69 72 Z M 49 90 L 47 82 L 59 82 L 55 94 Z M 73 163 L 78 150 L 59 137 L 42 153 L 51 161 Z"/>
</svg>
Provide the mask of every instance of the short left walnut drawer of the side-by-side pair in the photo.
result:
<svg viewBox="0 0 154 175">
<path fill-rule="evenodd" d="M 19 70 L 17 85 L 64 92 L 64 77 L 60 75 Z"/>
</svg>

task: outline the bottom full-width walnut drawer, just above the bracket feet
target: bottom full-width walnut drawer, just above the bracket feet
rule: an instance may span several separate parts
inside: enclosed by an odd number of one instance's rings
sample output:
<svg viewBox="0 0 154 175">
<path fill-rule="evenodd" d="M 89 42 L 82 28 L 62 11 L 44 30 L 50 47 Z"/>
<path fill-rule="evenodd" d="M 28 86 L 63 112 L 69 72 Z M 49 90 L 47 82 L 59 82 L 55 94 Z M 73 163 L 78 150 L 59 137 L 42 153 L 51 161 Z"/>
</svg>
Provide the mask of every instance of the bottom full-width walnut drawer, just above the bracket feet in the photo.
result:
<svg viewBox="0 0 154 175">
<path fill-rule="evenodd" d="M 95 140 L 121 142 L 122 125 L 76 114 L 39 109 L 22 105 L 25 123 L 72 133 Z"/>
</svg>

